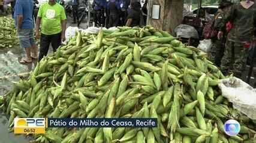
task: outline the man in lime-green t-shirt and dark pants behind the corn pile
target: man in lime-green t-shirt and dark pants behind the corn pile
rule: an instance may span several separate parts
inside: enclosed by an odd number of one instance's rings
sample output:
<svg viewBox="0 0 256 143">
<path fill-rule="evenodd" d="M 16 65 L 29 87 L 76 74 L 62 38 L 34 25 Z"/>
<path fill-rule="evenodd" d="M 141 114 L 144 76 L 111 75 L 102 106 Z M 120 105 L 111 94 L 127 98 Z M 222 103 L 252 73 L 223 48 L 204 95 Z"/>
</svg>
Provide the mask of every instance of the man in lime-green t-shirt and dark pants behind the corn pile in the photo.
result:
<svg viewBox="0 0 256 143">
<path fill-rule="evenodd" d="M 47 55 L 50 43 L 53 52 L 56 52 L 61 41 L 65 41 L 66 20 L 64 7 L 56 3 L 55 0 L 49 0 L 40 6 L 35 27 L 36 37 L 40 37 L 39 61 Z M 40 24 L 41 36 L 39 33 Z"/>
</svg>

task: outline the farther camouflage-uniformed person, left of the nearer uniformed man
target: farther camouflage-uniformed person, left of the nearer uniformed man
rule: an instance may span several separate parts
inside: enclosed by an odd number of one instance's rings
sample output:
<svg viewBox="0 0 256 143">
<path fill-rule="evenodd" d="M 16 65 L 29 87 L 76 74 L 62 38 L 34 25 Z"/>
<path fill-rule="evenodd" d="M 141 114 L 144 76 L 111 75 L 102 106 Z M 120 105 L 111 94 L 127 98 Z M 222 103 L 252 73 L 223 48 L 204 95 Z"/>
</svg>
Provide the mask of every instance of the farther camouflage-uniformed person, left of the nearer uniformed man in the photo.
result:
<svg viewBox="0 0 256 143">
<path fill-rule="evenodd" d="M 231 2 L 225 1 L 221 2 L 219 4 L 219 11 L 215 15 L 215 21 L 214 21 L 214 29 L 219 31 L 221 30 L 221 26 L 223 23 L 223 18 L 225 17 L 225 14 L 228 13 L 230 10 L 230 6 L 232 5 Z M 221 66 L 221 58 L 224 55 L 225 51 L 225 42 L 227 39 L 227 30 L 224 31 L 223 37 L 221 39 L 218 39 L 217 37 L 212 38 L 212 48 L 210 49 L 210 60 L 213 61 L 213 63 L 216 64 L 216 66 Z"/>
</svg>

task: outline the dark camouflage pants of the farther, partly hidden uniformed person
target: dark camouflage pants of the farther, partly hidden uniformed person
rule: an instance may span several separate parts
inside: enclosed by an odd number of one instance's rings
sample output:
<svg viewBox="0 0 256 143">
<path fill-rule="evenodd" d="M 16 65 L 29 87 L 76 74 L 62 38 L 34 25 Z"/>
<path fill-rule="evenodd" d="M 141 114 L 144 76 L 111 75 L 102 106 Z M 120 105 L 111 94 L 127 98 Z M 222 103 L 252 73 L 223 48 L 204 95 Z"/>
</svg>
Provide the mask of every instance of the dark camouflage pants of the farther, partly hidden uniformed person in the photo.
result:
<svg viewBox="0 0 256 143">
<path fill-rule="evenodd" d="M 213 45 L 210 48 L 209 58 L 210 60 L 216 64 L 216 66 L 221 66 L 221 59 L 224 55 L 225 45 L 223 41 L 212 40 Z"/>
</svg>

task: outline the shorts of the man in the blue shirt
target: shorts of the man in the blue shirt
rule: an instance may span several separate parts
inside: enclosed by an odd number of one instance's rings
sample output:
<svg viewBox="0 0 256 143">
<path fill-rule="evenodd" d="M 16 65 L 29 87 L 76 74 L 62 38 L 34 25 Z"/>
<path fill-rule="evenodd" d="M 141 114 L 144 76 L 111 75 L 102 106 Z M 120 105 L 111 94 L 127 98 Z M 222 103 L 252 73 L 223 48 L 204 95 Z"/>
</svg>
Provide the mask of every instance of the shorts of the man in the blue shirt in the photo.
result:
<svg viewBox="0 0 256 143">
<path fill-rule="evenodd" d="M 18 38 L 20 47 L 22 48 L 30 48 L 32 45 L 35 45 L 33 29 L 20 29 Z"/>
</svg>

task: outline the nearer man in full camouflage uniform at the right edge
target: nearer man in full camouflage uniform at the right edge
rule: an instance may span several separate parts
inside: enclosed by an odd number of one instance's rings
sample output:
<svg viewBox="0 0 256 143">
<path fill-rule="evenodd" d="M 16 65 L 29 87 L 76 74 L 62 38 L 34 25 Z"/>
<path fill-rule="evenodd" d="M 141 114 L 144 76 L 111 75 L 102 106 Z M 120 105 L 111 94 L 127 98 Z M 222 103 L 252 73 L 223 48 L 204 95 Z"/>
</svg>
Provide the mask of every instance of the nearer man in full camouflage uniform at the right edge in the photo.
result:
<svg viewBox="0 0 256 143">
<path fill-rule="evenodd" d="M 225 53 L 221 61 L 221 70 L 224 74 L 234 73 L 242 77 L 248 57 L 247 43 L 254 37 L 256 20 L 256 4 L 249 0 L 231 6 L 230 12 L 224 18 L 218 38 L 223 36 L 225 23 L 231 21 L 233 28 L 227 36 Z"/>
</svg>

